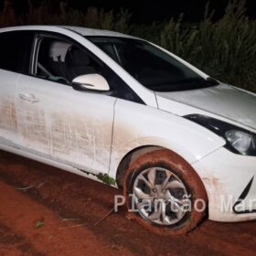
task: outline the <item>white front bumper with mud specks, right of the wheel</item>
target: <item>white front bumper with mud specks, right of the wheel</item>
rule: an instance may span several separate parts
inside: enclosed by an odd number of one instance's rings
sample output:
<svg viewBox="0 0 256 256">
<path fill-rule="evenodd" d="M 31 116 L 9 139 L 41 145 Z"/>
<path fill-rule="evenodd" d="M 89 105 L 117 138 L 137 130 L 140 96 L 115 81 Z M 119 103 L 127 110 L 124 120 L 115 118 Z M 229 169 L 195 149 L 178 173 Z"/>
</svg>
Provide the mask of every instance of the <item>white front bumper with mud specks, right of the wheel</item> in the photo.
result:
<svg viewBox="0 0 256 256">
<path fill-rule="evenodd" d="M 209 219 L 256 219 L 255 156 L 236 155 L 221 147 L 192 166 L 208 193 Z"/>
</svg>

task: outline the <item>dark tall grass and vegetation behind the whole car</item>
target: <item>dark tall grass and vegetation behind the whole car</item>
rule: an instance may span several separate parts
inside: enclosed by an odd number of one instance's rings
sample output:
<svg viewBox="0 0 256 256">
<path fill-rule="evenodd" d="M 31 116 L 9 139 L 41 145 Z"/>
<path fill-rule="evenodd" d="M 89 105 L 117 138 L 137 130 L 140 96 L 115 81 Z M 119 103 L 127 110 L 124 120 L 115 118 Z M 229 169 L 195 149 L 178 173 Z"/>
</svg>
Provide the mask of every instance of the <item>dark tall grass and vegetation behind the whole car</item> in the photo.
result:
<svg viewBox="0 0 256 256">
<path fill-rule="evenodd" d="M 187 24 L 181 15 L 161 24 L 132 25 L 127 10 L 106 12 L 89 7 L 85 12 L 69 8 L 64 2 L 52 11 L 48 2 L 29 4 L 26 14 L 17 14 L 5 0 L 0 27 L 27 24 L 61 24 L 111 29 L 144 37 L 204 70 L 219 80 L 256 91 L 256 21 L 245 13 L 245 0 L 233 0 L 225 15 L 212 21 L 208 5 L 198 24 Z"/>
</svg>

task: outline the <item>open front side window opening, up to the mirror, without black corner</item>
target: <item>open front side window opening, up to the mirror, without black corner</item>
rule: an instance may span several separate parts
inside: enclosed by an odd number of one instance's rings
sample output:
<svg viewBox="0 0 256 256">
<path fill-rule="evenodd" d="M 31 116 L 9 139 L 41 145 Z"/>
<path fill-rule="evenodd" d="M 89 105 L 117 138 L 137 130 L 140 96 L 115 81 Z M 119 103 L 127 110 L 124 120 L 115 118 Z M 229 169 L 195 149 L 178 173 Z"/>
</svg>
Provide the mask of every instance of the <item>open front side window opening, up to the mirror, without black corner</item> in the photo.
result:
<svg viewBox="0 0 256 256">
<path fill-rule="evenodd" d="M 101 73 L 101 65 L 81 48 L 59 38 L 41 37 L 38 41 L 35 75 L 69 85 L 76 77 Z"/>
</svg>

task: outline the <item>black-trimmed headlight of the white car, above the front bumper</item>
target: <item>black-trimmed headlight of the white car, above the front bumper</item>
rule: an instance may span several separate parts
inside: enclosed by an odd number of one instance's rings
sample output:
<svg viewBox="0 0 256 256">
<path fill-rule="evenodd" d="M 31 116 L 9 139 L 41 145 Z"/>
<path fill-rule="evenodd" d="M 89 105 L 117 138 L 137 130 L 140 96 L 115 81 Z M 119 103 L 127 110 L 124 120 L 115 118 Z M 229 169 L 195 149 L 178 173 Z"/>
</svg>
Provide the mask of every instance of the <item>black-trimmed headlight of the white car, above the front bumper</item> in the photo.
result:
<svg viewBox="0 0 256 256">
<path fill-rule="evenodd" d="M 256 134 L 233 124 L 205 115 L 191 114 L 185 118 L 208 128 L 226 140 L 226 148 L 240 155 L 256 155 Z"/>
</svg>

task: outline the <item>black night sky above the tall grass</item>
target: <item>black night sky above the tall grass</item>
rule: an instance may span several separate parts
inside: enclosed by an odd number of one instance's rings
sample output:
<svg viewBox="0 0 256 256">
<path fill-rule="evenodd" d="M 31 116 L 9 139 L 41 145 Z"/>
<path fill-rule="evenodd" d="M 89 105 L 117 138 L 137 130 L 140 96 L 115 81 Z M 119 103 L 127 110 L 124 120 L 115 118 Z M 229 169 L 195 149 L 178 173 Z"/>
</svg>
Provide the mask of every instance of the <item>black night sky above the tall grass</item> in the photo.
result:
<svg viewBox="0 0 256 256">
<path fill-rule="evenodd" d="M 2 4 L 4 0 L 0 0 Z M 27 10 L 27 0 L 9 0 L 17 11 L 24 12 Z M 39 5 L 42 1 L 30 0 L 35 5 Z M 121 7 L 128 9 L 132 16 L 133 23 L 147 24 L 153 21 L 164 21 L 171 17 L 178 17 L 184 13 L 184 20 L 187 22 L 197 22 L 202 19 L 205 12 L 205 6 L 208 0 L 156 0 L 156 1 L 140 1 L 139 5 L 132 5 L 132 1 L 101 1 L 101 0 L 62 0 L 67 2 L 70 7 L 85 10 L 88 6 L 103 7 L 106 10 L 119 10 Z M 60 1 L 48 0 L 54 7 L 59 5 Z M 116 3 L 115 3 L 116 2 Z M 255 8 L 253 8 L 255 0 L 247 0 L 248 15 L 251 18 L 256 17 Z M 119 4 L 118 4 L 119 3 Z M 211 0 L 210 9 L 215 9 L 214 19 L 223 16 L 225 7 L 229 0 Z M 0 5 L 1 6 L 1 5 Z"/>
</svg>

